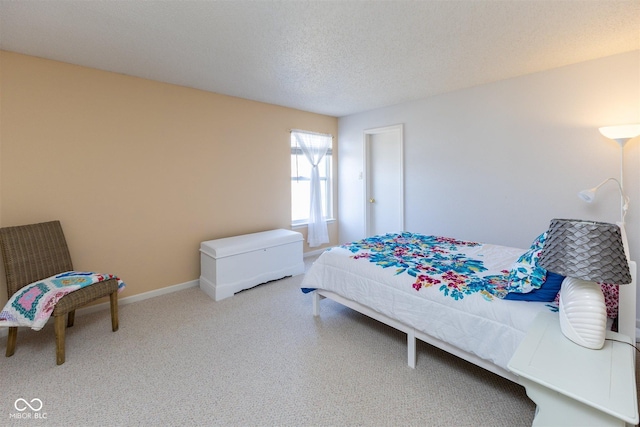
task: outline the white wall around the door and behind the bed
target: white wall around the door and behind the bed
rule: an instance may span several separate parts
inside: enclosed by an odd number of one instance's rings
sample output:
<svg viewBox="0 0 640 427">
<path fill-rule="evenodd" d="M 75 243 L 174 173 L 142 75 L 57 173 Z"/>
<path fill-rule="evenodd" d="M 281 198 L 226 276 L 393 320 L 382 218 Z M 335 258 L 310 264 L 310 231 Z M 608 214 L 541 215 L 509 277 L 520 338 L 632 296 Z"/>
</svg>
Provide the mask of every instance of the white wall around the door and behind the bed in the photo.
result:
<svg viewBox="0 0 640 427">
<path fill-rule="evenodd" d="M 363 130 L 404 124 L 406 229 L 526 248 L 552 218 L 616 222 L 619 177 L 598 127 L 640 122 L 640 51 L 486 84 L 339 121 L 340 241 L 362 238 Z M 627 232 L 640 259 L 640 138 L 625 147 Z"/>
</svg>

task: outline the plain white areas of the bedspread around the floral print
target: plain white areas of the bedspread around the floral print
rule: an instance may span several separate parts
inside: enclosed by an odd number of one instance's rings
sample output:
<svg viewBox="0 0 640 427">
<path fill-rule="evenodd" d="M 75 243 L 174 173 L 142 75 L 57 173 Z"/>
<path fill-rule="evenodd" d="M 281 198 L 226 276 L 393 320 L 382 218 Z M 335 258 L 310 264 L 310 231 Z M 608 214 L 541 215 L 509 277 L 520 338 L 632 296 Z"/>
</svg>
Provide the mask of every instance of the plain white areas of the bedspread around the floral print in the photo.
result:
<svg viewBox="0 0 640 427">
<path fill-rule="evenodd" d="M 485 275 L 504 275 L 524 252 L 490 244 L 465 249 L 469 257 L 482 260 Z M 415 281 L 415 276 L 354 259 L 353 251 L 336 247 L 318 258 L 301 287 L 335 292 L 503 369 L 537 313 L 555 310 L 549 303 L 506 301 L 482 292 L 456 299 L 437 285 L 416 290 Z"/>
</svg>

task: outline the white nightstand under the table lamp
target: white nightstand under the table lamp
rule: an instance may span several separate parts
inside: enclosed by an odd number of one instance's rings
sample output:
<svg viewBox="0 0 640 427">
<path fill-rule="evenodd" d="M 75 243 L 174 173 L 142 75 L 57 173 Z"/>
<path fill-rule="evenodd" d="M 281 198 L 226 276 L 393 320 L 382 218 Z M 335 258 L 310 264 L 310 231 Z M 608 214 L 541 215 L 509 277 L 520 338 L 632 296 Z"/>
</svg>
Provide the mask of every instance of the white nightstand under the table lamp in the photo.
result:
<svg viewBox="0 0 640 427">
<path fill-rule="evenodd" d="M 607 338 L 630 343 L 625 335 Z M 557 313 L 543 312 L 509 361 L 537 405 L 534 426 L 624 426 L 638 423 L 635 349 L 605 341 L 581 347 L 560 331 Z"/>
</svg>

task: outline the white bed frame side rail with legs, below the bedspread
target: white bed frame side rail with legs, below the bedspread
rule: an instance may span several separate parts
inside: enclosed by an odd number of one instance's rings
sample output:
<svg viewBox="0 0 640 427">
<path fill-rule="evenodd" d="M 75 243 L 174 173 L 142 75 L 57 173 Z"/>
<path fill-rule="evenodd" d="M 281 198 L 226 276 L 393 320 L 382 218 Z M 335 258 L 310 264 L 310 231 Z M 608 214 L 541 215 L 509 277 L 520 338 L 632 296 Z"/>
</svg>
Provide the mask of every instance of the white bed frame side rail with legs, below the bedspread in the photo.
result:
<svg viewBox="0 0 640 427">
<path fill-rule="evenodd" d="M 425 334 L 422 331 L 418 331 L 411 326 L 407 326 L 404 323 L 398 322 L 395 319 L 392 319 L 384 314 L 378 313 L 375 310 L 372 310 L 369 307 L 366 307 L 362 304 L 359 304 L 350 299 L 344 298 L 334 292 L 316 289 L 313 291 L 313 315 L 320 315 L 320 300 L 324 298 L 329 298 L 330 300 L 336 301 L 345 307 L 349 307 L 352 310 L 355 310 L 359 313 L 364 314 L 365 316 L 369 316 L 372 319 L 375 319 L 379 322 L 384 323 L 385 325 L 391 326 L 401 332 L 407 334 L 407 363 L 409 367 L 416 367 L 416 338 L 420 341 L 424 341 L 428 344 L 431 344 L 435 347 L 438 347 L 447 353 L 450 353 L 456 357 L 464 359 L 474 365 L 480 366 L 494 374 L 500 375 L 510 381 L 518 382 L 518 377 L 513 373 L 507 371 L 506 369 L 501 368 L 500 366 L 496 366 L 493 363 L 490 363 L 484 359 L 479 358 L 478 356 L 466 352 L 464 350 L 459 349 L 445 341 L 442 341 L 438 338 L 432 337 L 431 335 Z"/>
</svg>

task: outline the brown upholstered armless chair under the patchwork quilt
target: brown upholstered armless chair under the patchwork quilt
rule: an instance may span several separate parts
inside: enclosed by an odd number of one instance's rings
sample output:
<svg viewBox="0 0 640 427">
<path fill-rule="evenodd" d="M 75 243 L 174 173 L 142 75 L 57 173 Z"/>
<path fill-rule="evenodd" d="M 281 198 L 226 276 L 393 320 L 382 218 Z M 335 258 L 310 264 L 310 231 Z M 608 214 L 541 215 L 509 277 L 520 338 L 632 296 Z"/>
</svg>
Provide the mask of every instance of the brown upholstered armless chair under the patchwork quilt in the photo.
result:
<svg viewBox="0 0 640 427">
<path fill-rule="evenodd" d="M 0 228 L 0 247 L 7 277 L 7 294 L 11 297 L 19 289 L 38 280 L 65 271 L 72 271 L 71 256 L 60 221 Z M 75 310 L 99 298 L 111 301 L 111 328 L 118 330 L 118 281 L 105 280 L 70 292 L 53 309 L 56 336 L 56 362 L 64 363 L 65 315 L 67 327 L 73 326 Z M 16 349 L 18 328 L 10 327 L 6 356 Z"/>
</svg>

